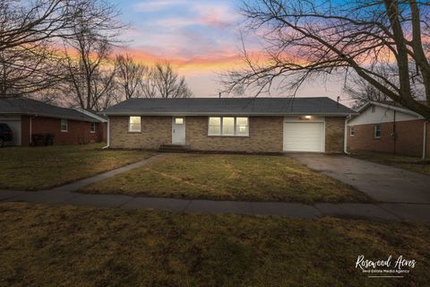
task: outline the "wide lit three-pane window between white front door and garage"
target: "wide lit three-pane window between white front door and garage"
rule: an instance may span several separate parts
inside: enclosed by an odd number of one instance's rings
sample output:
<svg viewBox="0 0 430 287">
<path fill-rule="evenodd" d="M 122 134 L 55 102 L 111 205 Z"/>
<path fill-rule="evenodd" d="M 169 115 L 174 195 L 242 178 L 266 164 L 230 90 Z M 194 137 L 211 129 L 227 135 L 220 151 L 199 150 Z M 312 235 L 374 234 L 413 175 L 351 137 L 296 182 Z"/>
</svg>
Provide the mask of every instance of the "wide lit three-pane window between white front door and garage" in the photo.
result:
<svg viewBox="0 0 430 287">
<path fill-rule="evenodd" d="M 209 117 L 208 135 L 247 136 L 248 117 Z"/>
</svg>

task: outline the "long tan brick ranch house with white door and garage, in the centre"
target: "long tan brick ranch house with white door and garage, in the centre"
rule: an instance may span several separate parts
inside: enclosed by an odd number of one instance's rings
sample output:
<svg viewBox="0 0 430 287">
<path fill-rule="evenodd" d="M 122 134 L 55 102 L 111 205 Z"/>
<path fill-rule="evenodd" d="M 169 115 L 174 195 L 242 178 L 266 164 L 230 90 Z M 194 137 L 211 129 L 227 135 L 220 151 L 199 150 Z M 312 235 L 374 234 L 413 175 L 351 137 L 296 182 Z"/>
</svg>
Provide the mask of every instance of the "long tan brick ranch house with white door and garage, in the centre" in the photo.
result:
<svg viewBox="0 0 430 287">
<path fill-rule="evenodd" d="M 105 111 L 111 148 L 329 153 L 344 152 L 354 113 L 329 98 L 131 99 Z"/>
</svg>

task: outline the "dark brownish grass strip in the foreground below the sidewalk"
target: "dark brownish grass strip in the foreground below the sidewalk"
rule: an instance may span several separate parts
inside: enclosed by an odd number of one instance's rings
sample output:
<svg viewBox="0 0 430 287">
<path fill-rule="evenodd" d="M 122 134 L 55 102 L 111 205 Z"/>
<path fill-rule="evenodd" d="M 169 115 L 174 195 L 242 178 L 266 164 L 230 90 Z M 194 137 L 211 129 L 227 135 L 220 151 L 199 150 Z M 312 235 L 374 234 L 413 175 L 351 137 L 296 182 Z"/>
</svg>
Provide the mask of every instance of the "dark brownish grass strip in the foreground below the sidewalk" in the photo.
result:
<svg viewBox="0 0 430 287">
<path fill-rule="evenodd" d="M 428 286 L 430 228 L 0 204 L 0 286 Z M 417 260 L 370 279 L 359 255 Z"/>
</svg>

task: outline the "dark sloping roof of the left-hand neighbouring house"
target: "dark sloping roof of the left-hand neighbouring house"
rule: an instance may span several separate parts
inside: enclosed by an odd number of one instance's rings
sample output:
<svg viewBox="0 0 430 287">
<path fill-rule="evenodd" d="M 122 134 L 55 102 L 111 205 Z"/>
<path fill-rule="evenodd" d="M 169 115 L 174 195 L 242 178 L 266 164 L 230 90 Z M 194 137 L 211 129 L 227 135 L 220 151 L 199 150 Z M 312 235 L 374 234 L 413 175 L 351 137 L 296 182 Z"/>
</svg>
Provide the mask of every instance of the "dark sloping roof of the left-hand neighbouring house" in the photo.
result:
<svg viewBox="0 0 430 287">
<path fill-rule="evenodd" d="M 96 117 L 91 117 L 75 109 L 66 109 L 47 104 L 39 100 L 24 98 L 0 99 L 0 115 L 29 115 L 39 117 L 58 117 L 88 122 L 99 122 Z"/>
</svg>

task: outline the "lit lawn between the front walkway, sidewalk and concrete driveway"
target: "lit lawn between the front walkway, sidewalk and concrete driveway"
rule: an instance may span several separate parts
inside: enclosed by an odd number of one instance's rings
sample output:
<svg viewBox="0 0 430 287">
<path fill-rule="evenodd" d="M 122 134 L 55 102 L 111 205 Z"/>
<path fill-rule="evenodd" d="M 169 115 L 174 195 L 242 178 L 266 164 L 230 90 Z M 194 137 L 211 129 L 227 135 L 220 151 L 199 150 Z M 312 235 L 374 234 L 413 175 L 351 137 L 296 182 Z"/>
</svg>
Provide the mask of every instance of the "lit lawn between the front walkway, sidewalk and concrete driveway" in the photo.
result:
<svg viewBox="0 0 430 287">
<path fill-rule="evenodd" d="M 367 202 L 363 193 L 285 156 L 169 154 L 82 192 L 289 202 Z"/>
</svg>

